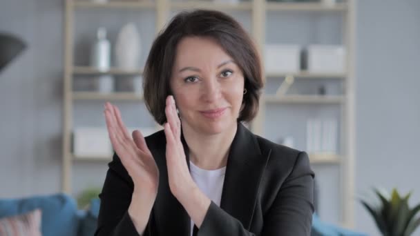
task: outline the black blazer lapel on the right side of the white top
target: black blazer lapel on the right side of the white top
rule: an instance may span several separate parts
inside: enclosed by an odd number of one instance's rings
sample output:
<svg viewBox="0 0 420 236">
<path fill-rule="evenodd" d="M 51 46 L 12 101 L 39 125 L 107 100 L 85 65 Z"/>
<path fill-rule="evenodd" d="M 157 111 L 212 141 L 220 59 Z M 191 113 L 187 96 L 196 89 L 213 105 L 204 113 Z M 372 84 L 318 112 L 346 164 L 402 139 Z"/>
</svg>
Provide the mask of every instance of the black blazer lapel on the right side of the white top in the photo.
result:
<svg viewBox="0 0 420 236">
<path fill-rule="evenodd" d="M 242 124 L 229 150 L 220 207 L 249 230 L 258 198 L 260 179 L 269 154 L 263 155 L 256 136 Z"/>
</svg>

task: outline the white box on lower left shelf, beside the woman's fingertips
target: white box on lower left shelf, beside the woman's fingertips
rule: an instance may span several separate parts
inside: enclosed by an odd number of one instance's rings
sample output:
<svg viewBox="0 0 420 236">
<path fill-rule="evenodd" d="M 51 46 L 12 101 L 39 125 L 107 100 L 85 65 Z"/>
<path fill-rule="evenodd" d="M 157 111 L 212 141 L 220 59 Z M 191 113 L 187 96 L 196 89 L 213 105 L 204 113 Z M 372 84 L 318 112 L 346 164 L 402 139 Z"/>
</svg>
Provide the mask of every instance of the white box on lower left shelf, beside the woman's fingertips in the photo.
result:
<svg viewBox="0 0 420 236">
<path fill-rule="evenodd" d="M 109 159 L 113 155 L 111 141 L 106 128 L 75 128 L 73 153 L 77 158 L 97 157 Z"/>
</svg>

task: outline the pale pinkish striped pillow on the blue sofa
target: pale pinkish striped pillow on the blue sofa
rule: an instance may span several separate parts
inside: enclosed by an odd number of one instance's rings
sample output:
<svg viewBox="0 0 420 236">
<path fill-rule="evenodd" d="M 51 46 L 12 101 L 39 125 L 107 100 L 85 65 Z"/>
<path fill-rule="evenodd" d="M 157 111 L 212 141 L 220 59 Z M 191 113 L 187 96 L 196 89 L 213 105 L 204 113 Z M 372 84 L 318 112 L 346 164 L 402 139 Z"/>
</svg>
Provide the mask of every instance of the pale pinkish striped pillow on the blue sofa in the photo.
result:
<svg viewBox="0 0 420 236">
<path fill-rule="evenodd" d="M 0 219 L 2 236 L 41 236 L 41 210 Z"/>
</svg>

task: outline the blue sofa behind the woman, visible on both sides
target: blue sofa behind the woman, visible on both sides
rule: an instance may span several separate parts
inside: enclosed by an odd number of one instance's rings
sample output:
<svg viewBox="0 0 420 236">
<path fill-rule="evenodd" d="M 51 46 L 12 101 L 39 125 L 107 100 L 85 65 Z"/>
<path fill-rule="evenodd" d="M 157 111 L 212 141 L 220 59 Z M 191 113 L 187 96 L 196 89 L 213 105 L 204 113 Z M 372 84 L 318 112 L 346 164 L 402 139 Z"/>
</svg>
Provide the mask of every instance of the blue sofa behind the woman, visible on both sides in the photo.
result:
<svg viewBox="0 0 420 236">
<path fill-rule="evenodd" d="M 99 214 L 99 199 L 90 201 L 87 210 L 77 210 L 72 197 L 56 195 L 35 196 L 22 199 L 0 199 L 0 219 L 27 213 L 35 208 L 42 210 L 41 233 L 44 236 L 92 236 Z M 364 236 L 364 234 L 321 222 L 314 214 L 312 236 Z"/>
</svg>

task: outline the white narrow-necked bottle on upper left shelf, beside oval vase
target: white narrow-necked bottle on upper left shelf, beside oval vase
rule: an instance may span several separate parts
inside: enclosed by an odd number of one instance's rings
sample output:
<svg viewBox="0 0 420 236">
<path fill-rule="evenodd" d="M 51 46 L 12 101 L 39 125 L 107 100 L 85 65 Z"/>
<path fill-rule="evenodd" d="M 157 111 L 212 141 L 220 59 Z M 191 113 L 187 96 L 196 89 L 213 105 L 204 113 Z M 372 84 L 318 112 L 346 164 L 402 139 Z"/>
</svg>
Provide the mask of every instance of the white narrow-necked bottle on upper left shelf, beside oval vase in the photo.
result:
<svg viewBox="0 0 420 236">
<path fill-rule="evenodd" d="M 90 52 L 90 66 L 99 71 L 109 70 L 111 64 L 111 43 L 106 39 L 106 29 L 97 29 L 96 41 Z"/>
</svg>

